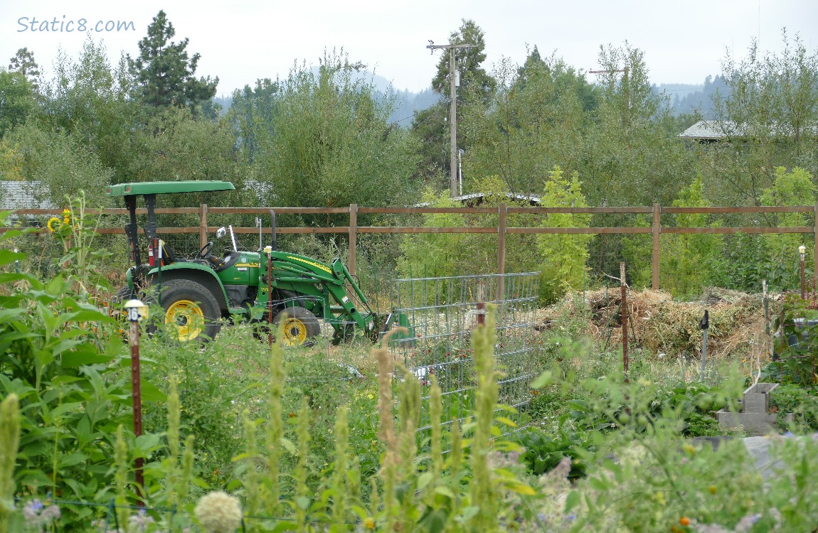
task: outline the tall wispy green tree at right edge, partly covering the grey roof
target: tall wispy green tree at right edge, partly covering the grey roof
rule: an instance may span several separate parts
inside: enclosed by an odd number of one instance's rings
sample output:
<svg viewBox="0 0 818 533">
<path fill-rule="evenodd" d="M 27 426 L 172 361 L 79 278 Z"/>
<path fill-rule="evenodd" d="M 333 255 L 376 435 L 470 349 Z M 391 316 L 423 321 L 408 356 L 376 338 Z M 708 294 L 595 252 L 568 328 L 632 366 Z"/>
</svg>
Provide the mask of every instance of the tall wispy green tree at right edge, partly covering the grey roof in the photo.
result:
<svg viewBox="0 0 818 533">
<path fill-rule="evenodd" d="M 811 128 L 818 119 L 818 52 L 809 52 L 798 35 L 793 39 L 784 29 L 775 52 L 753 40 L 740 61 L 727 52 L 721 70 L 727 90 L 714 97 L 714 118 L 729 142 L 707 150 L 714 174 L 729 177 L 714 182 L 719 197 L 728 202 L 758 198 L 782 164 L 815 176 Z"/>
</svg>

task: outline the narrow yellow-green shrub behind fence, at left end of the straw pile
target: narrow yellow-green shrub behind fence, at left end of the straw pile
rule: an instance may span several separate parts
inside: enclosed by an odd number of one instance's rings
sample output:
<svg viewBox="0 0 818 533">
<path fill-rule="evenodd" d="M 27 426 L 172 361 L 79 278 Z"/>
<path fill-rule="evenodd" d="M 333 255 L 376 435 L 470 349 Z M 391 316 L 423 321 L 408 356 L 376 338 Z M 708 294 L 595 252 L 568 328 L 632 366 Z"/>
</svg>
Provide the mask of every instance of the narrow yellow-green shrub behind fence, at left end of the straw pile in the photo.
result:
<svg viewBox="0 0 818 533">
<path fill-rule="evenodd" d="M 541 200 L 546 208 L 584 208 L 585 195 L 576 172 L 570 178 L 563 176 L 560 167 L 548 172 Z M 549 213 L 543 227 L 587 227 L 591 215 L 585 213 Z M 542 234 L 537 237 L 537 251 L 542 258 L 540 297 L 555 302 L 569 289 L 579 289 L 586 282 L 588 243 L 591 235 Z"/>
</svg>

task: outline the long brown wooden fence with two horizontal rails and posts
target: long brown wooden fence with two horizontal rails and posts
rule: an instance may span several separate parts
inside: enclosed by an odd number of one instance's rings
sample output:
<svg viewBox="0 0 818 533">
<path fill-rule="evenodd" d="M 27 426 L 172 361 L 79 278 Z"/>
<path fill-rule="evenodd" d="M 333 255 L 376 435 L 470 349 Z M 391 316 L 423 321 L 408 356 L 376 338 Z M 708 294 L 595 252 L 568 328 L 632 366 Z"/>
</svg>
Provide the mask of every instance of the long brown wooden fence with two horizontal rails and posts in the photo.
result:
<svg viewBox="0 0 818 533">
<path fill-rule="evenodd" d="M 198 208 L 157 208 L 157 214 L 196 214 L 199 216 L 199 226 L 187 227 L 160 227 L 157 233 L 198 233 L 200 245 L 204 246 L 208 240 L 208 234 L 216 231 L 218 226 L 208 224 L 208 215 L 269 215 L 271 208 L 217 208 L 201 204 Z M 509 207 L 501 204 L 497 208 L 488 207 L 462 207 L 462 208 L 434 208 L 434 207 L 411 207 L 411 208 L 366 208 L 351 204 L 343 208 L 272 208 L 276 214 L 308 214 L 308 215 L 348 215 L 348 226 L 309 226 L 309 227 L 278 227 L 277 233 L 282 234 L 347 234 L 349 239 L 348 269 L 355 273 L 355 262 L 357 256 L 357 235 L 359 234 L 492 234 L 498 235 L 497 241 L 497 271 L 506 271 L 506 235 L 509 234 L 650 234 L 653 236 L 653 272 L 652 286 L 658 289 L 659 285 L 659 239 L 660 235 L 666 234 L 785 234 L 785 233 L 811 233 L 814 235 L 814 256 L 815 264 L 818 265 L 818 205 L 814 206 L 785 206 L 785 207 L 663 207 L 654 204 L 652 207 L 604 207 L 604 208 L 541 208 L 541 207 Z M 20 216 L 49 216 L 61 215 L 61 209 L 17 209 L 12 212 L 17 217 Z M 127 215 L 127 209 L 88 209 L 88 214 L 106 215 Z M 146 214 L 146 209 L 137 209 L 137 214 Z M 424 215 L 424 214 L 489 214 L 497 215 L 497 226 L 358 226 L 357 217 L 359 214 L 391 214 L 391 215 Z M 508 215 L 548 215 L 557 213 L 575 214 L 642 214 L 652 215 L 650 226 L 599 226 L 599 227 L 542 227 L 542 226 L 507 226 Z M 661 217 L 663 214 L 773 214 L 773 213 L 813 213 L 813 226 L 741 226 L 741 227 L 679 227 L 662 226 Z M 0 233 L 11 228 L 0 228 Z M 257 234 L 258 227 L 234 227 L 239 234 Z M 45 228 L 37 228 L 34 232 L 47 231 Z M 104 234 L 124 235 L 123 228 L 99 228 L 97 230 Z M 262 228 L 262 233 L 270 235 L 271 229 Z M 816 269 L 818 271 L 818 269 Z M 813 278 L 814 283 L 818 280 Z"/>
</svg>

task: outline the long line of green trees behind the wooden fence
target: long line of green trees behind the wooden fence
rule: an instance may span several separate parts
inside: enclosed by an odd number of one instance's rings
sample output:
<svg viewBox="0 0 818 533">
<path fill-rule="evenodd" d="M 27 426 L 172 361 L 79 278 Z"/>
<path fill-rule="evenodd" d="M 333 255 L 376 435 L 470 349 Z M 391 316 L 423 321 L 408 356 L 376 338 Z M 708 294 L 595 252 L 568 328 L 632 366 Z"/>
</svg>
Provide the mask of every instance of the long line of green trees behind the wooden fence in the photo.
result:
<svg viewBox="0 0 818 533">
<path fill-rule="evenodd" d="M 744 60 L 726 56 L 707 108 L 675 116 L 669 98 L 651 86 L 645 52 L 630 43 L 600 46 L 596 74 L 543 55 L 536 46 L 522 65 L 503 59 L 488 70 L 483 30 L 463 20 L 450 36 L 450 43 L 473 45 L 456 51 L 457 146 L 463 151 L 460 168 L 453 169 L 447 56 L 431 80 L 438 103 L 416 111 L 410 128 L 400 128 L 389 119 L 400 95 L 377 91 L 371 78 L 360 75 L 366 65 L 343 49 L 326 51 L 317 65 L 295 65 L 285 78 L 258 78 L 233 92 L 225 113 L 213 98 L 218 77 L 196 74 L 199 54 L 188 52 L 187 38 L 174 38 L 173 24 L 160 11 L 137 56 L 111 64 L 102 44 L 88 38 L 78 56 L 55 58 L 49 79 L 33 53 L 21 49 L 0 70 L 2 179 L 42 181 L 56 203 L 83 189 L 91 204 L 106 207 L 115 207 L 102 194 L 109 183 L 177 179 L 236 184 L 235 193 L 208 204 L 444 202 L 450 201 L 451 172 L 461 172 L 464 194 L 481 192 L 489 202 L 505 193 L 551 198 L 555 205 L 816 202 L 818 54 L 786 31 L 781 52 L 753 44 Z M 676 137 L 705 111 L 722 128 L 722 141 Z M 176 201 L 190 205 L 196 199 Z M 573 221 L 580 222 L 586 223 Z M 622 222 L 607 219 L 605 225 Z M 644 245 L 639 239 L 599 235 L 583 242 L 580 257 L 587 257 L 591 276 L 615 271 L 621 258 L 638 267 L 636 250 Z M 753 260 L 769 242 L 761 238 L 708 242 L 669 250 L 670 256 L 676 249 L 693 254 L 676 264 L 682 271 L 694 266 L 690 276 L 698 281 L 678 292 L 716 281 L 748 289 L 780 258 L 765 249 Z M 404 251 L 413 246 L 407 241 Z M 534 249 L 542 258 L 560 246 Z M 721 280 L 703 273 L 706 262 L 695 254 L 710 250 L 716 261 L 725 249 L 766 266 Z M 734 263 L 721 267 L 735 270 Z"/>
</svg>

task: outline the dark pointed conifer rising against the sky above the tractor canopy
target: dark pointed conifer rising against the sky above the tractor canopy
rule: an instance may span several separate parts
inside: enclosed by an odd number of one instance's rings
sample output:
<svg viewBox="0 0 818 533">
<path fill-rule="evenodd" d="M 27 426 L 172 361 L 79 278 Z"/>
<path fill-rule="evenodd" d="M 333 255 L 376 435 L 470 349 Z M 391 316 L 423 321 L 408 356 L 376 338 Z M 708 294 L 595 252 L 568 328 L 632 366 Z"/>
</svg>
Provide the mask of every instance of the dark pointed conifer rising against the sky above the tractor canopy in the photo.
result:
<svg viewBox="0 0 818 533">
<path fill-rule="evenodd" d="M 128 68 L 137 83 L 137 96 L 154 107 L 184 107 L 191 110 L 216 94 L 218 77 L 196 78 L 200 54 L 187 54 L 189 39 L 175 43 L 173 24 L 164 11 L 148 25 L 148 34 L 139 42 L 139 56 L 128 55 Z"/>
</svg>

